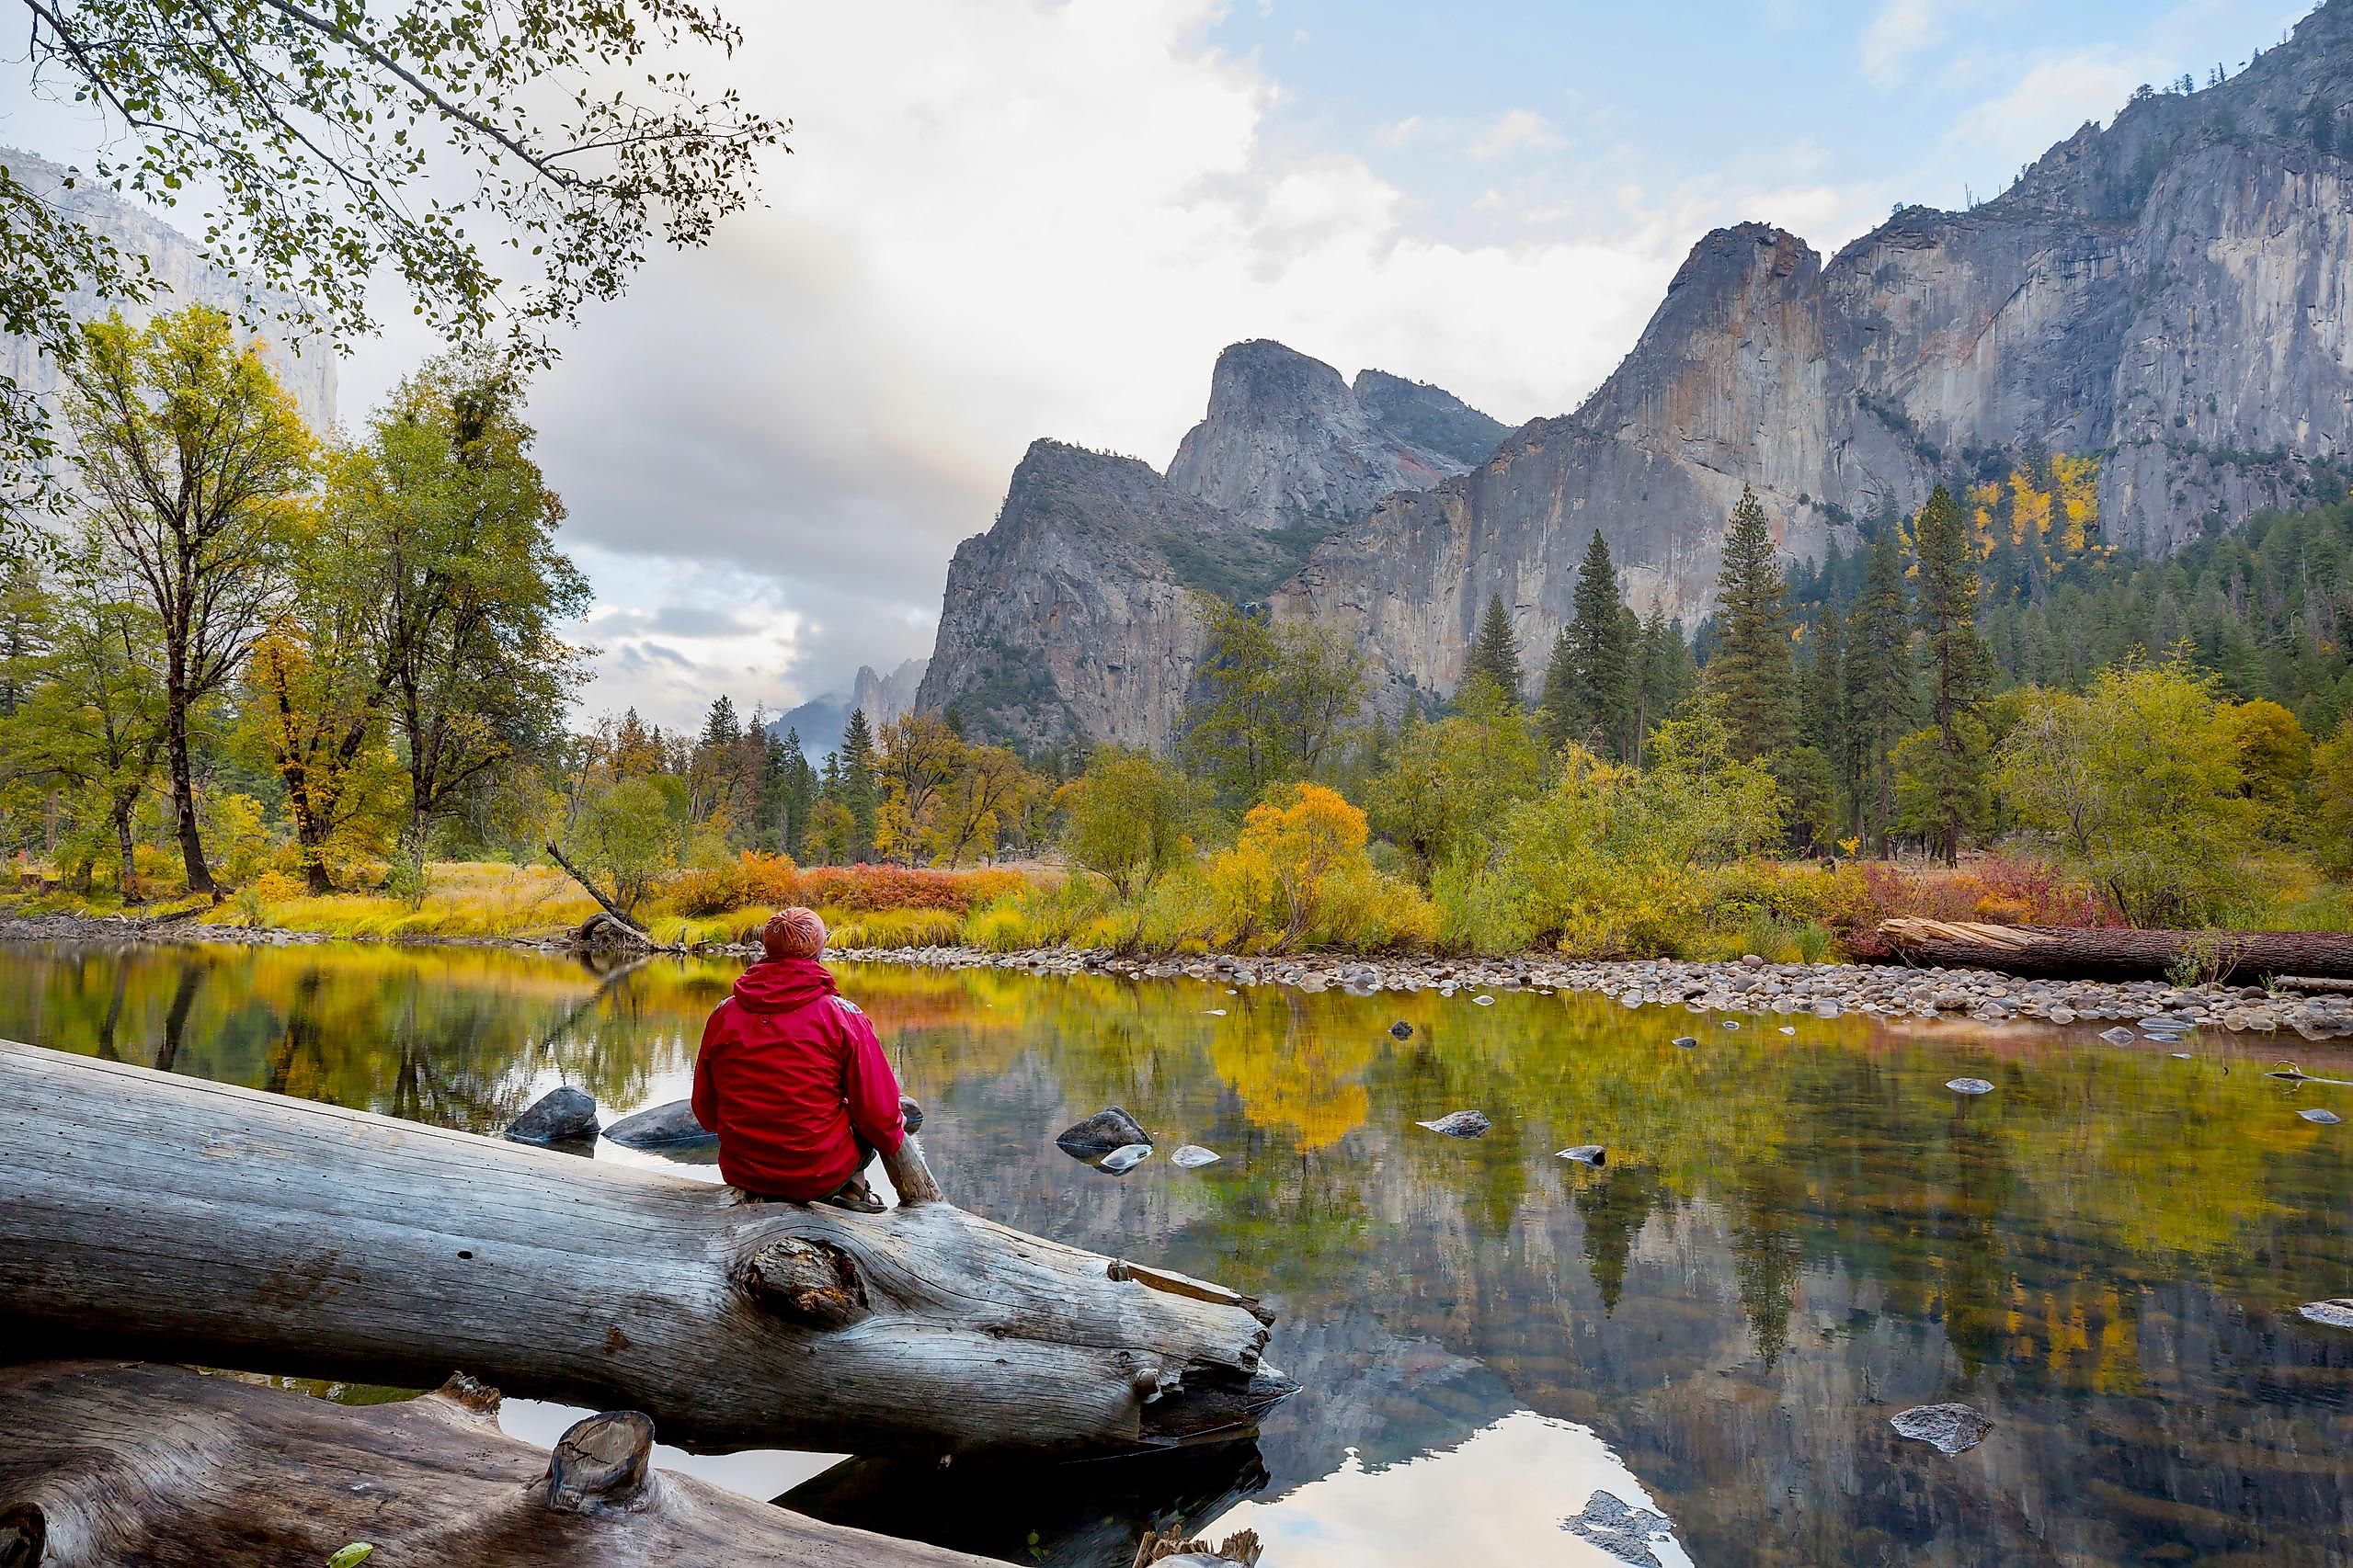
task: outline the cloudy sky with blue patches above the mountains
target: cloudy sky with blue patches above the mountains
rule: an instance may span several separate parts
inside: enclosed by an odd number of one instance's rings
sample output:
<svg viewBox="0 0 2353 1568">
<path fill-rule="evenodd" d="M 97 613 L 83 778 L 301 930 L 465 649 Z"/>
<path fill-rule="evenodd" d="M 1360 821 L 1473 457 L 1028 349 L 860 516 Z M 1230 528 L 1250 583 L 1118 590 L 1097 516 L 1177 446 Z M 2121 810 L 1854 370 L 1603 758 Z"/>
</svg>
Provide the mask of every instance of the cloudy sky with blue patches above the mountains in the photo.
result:
<svg viewBox="0 0 2353 1568">
<path fill-rule="evenodd" d="M 1226 343 L 1562 414 L 1706 230 L 1769 221 L 1828 256 L 1897 205 L 1984 200 L 2311 5 L 722 9 L 744 49 L 687 63 L 788 115 L 793 150 L 762 205 L 558 339 L 529 404 L 595 585 L 581 719 L 776 712 L 929 654 L 948 557 L 1028 442 L 1165 468 Z M 94 132 L 0 78 L 0 141 L 75 162 Z M 341 418 L 433 348 L 360 346 Z"/>
</svg>

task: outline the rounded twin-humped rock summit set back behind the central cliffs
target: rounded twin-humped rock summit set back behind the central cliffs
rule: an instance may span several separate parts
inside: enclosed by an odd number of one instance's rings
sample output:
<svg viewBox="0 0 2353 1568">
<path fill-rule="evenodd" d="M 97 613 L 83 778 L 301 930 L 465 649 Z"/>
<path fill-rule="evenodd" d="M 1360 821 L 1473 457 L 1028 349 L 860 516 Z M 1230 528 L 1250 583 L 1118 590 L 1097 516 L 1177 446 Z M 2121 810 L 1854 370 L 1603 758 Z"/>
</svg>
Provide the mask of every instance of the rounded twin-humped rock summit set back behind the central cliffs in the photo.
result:
<svg viewBox="0 0 2353 1568">
<path fill-rule="evenodd" d="M 1464 473 L 1499 440 L 1499 421 L 1435 386 L 1362 371 L 1351 388 L 1322 360 L 1254 339 L 1217 357 L 1209 411 L 1167 482 L 1259 529 L 1332 529 Z"/>
</svg>

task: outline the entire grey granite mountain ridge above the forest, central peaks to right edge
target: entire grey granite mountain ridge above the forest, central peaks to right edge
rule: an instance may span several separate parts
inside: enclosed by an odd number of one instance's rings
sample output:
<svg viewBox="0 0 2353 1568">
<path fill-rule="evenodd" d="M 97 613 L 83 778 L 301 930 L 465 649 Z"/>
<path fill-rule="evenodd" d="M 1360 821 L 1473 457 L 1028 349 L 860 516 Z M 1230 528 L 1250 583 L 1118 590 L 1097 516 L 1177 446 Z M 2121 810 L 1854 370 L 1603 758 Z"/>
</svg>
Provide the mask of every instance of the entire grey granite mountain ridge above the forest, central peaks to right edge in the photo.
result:
<svg viewBox="0 0 2353 1568">
<path fill-rule="evenodd" d="M 2106 538 L 2155 555 L 2294 505 L 2353 449 L 2353 0 L 2217 87 L 2134 94 L 1972 212 L 1906 207 L 1828 263 L 1708 233 L 1577 411 L 1480 454 L 1487 425 L 1238 343 L 1165 477 L 1031 447 L 955 552 L 918 705 L 1165 745 L 1207 590 L 1344 628 L 1398 712 L 1454 689 L 1489 595 L 1541 668 L 1593 531 L 1638 609 L 1697 625 L 1744 484 L 1791 559 L 2033 451 L 2097 456 Z"/>
</svg>

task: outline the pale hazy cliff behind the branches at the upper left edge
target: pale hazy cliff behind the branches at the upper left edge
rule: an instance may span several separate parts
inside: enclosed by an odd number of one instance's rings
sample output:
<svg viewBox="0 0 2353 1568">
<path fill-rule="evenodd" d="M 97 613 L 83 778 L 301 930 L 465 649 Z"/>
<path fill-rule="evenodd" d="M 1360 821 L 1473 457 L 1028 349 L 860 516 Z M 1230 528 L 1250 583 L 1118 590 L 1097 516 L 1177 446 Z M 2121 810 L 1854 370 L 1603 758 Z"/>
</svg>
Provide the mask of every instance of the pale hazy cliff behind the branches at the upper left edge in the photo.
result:
<svg viewBox="0 0 2353 1568">
<path fill-rule="evenodd" d="M 108 190 L 96 190 L 89 181 L 82 181 L 75 190 L 66 190 L 66 169 L 42 158 L 33 158 L 31 153 L 19 153 L 16 148 L 0 148 L 0 167 L 7 167 L 7 172 L 26 186 L 26 190 L 66 207 L 82 221 L 85 228 L 113 240 L 125 259 L 146 256 L 155 280 L 162 284 L 155 292 L 155 301 L 146 306 L 146 310 L 181 310 L 191 303 L 202 303 L 238 315 L 242 308 L 242 284 L 238 284 L 238 280 L 228 273 L 209 266 L 195 240 L 160 221 L 146 207 L 125 202 Z M 96 296 L 78 296 L 73 301 L 73 315 L 85 322 L 104 320 L 113 308 L 115 301 L 101 301 Z M 282 303 L 273 303 L 271 296 L 264 294 L 259 299 L 261 313 L 273 313 L 278 308 L 282 308 Z M 139 310 L 125 310 L 125 315 L 139 315 Z M 325 343 L 308 343 L 306 350 L 296 355 L 278 341 L 280 336 L 282 334 L 264 334 L 264 357 L 271 362 L 271 369 L 278 374 L 278 381 L 287 388 L 287 393 L 294 395 L 294 407 L 301 409 L 304 421 L 313 430 L 332 428 L 334 353 Z M 0 374 L 14 378 L 16 386 L 38 397 L 47 397 L 59 388 L 56 364 L 40 357 L 33 350 L 31 339 L 0 336 Z"/>
</svg>

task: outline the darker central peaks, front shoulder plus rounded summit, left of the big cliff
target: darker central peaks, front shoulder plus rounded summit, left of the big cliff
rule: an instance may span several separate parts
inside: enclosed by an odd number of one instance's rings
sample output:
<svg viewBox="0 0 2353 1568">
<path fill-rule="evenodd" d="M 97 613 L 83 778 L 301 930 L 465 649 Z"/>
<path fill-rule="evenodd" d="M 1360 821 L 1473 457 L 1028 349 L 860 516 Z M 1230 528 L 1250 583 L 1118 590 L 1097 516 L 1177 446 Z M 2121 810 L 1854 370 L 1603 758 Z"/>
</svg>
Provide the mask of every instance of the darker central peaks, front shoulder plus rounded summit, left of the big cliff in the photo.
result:
<svg viewBox="0 0 2353 1568">
<path fill-rule="evenodd" d="M 1280 343 L 1235 343 L 1167 477 L 1031 444 L 995 527 L 955 550 L 915 708 L 1028 745 L 1165 748 L 1202 658 L 1200 595 L 1264 597 L 1313 538 L 1468 470 L 1501 433 L 1433 386 L 1362 371 L 1351 388 Z"/>
</svg>

